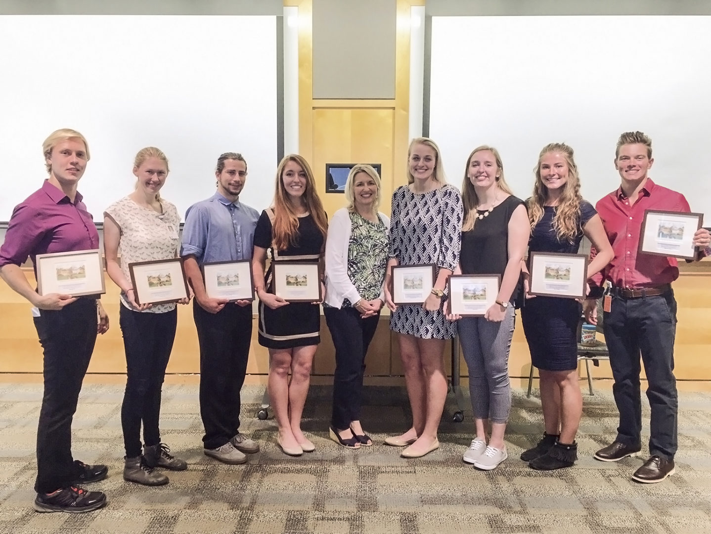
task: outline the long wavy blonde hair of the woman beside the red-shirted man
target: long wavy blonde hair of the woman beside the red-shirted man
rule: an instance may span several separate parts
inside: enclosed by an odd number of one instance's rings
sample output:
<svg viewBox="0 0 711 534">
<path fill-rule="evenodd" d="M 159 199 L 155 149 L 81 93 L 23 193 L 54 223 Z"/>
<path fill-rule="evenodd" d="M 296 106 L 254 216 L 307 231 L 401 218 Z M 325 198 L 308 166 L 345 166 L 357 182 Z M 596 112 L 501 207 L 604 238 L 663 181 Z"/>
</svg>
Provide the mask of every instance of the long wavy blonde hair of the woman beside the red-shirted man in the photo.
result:
<svg viewBox="0 0 711 534">
<path fill-rule="evenodd" d="M 572 243 L 580 230 L 582 196 L 580 195 L 580 177 L 573 159 L 573 149 L 565 143 L 547 144 L 538 155 L 538 164 L 533 169 L 535 172 L 533 196 L 528 199 L 528 220 L 530 220 L 531 230 L 533 230 L 543 217 L 543 205 L 548 198 L 548 188 L 540 178 L 540 162 L 543 156 L 550 153 L 562 154 L 568 166 L 568 178 L 555 210 L 553 229 L 559 241 L 567 240 Z"/>
</svg>

